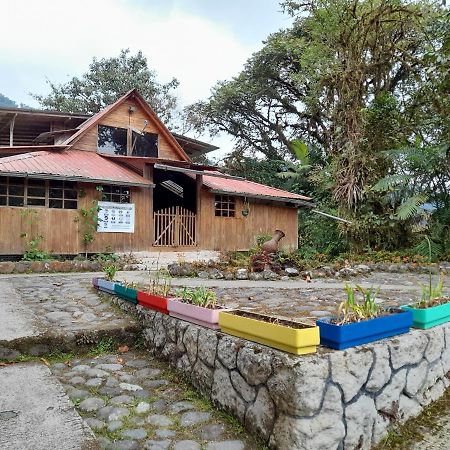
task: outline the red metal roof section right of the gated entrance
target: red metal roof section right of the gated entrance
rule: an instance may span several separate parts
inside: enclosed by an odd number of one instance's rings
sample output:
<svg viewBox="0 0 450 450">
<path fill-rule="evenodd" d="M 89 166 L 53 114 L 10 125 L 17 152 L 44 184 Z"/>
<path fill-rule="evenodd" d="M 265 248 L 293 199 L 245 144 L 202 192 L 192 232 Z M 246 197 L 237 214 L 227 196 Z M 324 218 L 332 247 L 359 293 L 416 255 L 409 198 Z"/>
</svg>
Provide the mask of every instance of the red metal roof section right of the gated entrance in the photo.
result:
<svg viewBox="0 0 450 450">
<path fill-rule="evenodd" d="M 207 172 L 205 172 L 207 173 Z M 292 192 L 283 191 L 264 184 L 255 183 L 254 181 L 239 180 L 234 178 L 220 178 L 203 176 L 203 184 L 213 191 L 221 191 L 230 194 L 247 194 L 248 197 L 273 197 L 274 200 L 311 200 L 310 197 L 304 195 L 293 194 Z"/>
</svg>

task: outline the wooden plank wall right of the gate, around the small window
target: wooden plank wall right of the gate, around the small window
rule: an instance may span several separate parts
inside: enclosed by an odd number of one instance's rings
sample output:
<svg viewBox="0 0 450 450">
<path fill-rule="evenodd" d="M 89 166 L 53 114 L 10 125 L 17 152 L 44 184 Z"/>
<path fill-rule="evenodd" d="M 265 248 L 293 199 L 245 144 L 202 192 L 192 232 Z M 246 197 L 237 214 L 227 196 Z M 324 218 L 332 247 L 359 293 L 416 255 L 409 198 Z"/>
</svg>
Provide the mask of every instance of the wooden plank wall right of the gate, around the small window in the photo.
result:
<svg viewBox="0 0 450 450">
<path fill-rule="evenodd" d="M 244 217 L 242 197 L 236 197 L 236 217 L 216 217 L 214 194 L 202 190 L 199 248 L 210 250 L 248 250 L 254 245 L 255 237 L 272 235 L 276 229 L 284 231 L 280 248 L 297 249 L 297 208 L 267 204 L 250 199 L 250 213 Z"/>
</svg>

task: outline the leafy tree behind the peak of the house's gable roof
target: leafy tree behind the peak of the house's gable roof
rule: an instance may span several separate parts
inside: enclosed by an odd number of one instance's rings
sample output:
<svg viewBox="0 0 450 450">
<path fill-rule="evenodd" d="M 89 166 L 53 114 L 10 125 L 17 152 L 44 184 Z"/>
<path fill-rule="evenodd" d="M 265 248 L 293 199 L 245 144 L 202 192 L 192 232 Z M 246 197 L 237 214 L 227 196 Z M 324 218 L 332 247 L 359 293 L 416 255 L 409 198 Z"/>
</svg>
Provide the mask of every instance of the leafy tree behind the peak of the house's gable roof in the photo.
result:
<svg viewBox="0 0 450 450">
<path fill-rule="evenodd" d="M 93 58 L 88 72 L 80 78 L 73 77 L 65 84 L 48 83 L 50 94 L 32 95 L 44 108 L 57 111 L 94 114 L 134 88 L 165 124 L 171 124 L 177 107 L 172 91 L 178 81 L 173 78 L 169 83 L 159 83 L 140 51 L 132 55 L 125 49 L 118 57 Z"/>
</svg>

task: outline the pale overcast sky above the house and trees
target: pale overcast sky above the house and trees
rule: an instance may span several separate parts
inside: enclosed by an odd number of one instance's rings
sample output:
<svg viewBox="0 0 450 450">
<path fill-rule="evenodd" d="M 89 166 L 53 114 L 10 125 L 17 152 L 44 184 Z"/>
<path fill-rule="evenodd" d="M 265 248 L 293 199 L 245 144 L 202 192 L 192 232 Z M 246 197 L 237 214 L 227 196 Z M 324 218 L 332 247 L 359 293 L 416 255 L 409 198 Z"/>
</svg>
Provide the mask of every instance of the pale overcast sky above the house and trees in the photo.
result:
<svg viewBox="0 0 450 450">
<path fill-rule="evenodd" d="M 270 33 L 289 25 L 279 0 L 0 0 L 0 93 L 37 107 L 94 56 L 142 50 L 160 81 L 176 77 L 183 104 L 236 75 Z M 228 139 L 229 140 L 229 139 Z M 216 142 L 230 147 L 225 137 Z"/>
</svg>

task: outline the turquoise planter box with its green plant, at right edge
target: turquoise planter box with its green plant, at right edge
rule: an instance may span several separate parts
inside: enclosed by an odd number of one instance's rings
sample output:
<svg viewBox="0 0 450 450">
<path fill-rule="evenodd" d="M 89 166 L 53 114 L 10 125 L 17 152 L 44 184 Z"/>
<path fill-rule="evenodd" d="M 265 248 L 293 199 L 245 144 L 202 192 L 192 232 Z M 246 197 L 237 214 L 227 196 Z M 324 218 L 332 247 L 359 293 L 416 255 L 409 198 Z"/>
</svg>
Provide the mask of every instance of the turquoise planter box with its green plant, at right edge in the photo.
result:
<svg viewBox="0 0 450 450">
<path fill-rule="evenodd" d="M 431 273 L 431 242 L 427 236 L 429 249 L 428 284 L 422 286 L 422 299 L 412 305 L 404 305 L 402 309 L 410 311 L 413 316 L 413 327 L 423 330 L 450 321 L 450 297 L 443 294 L 444 277 L 441 275 L 433 287 Z"/>
</svg>

